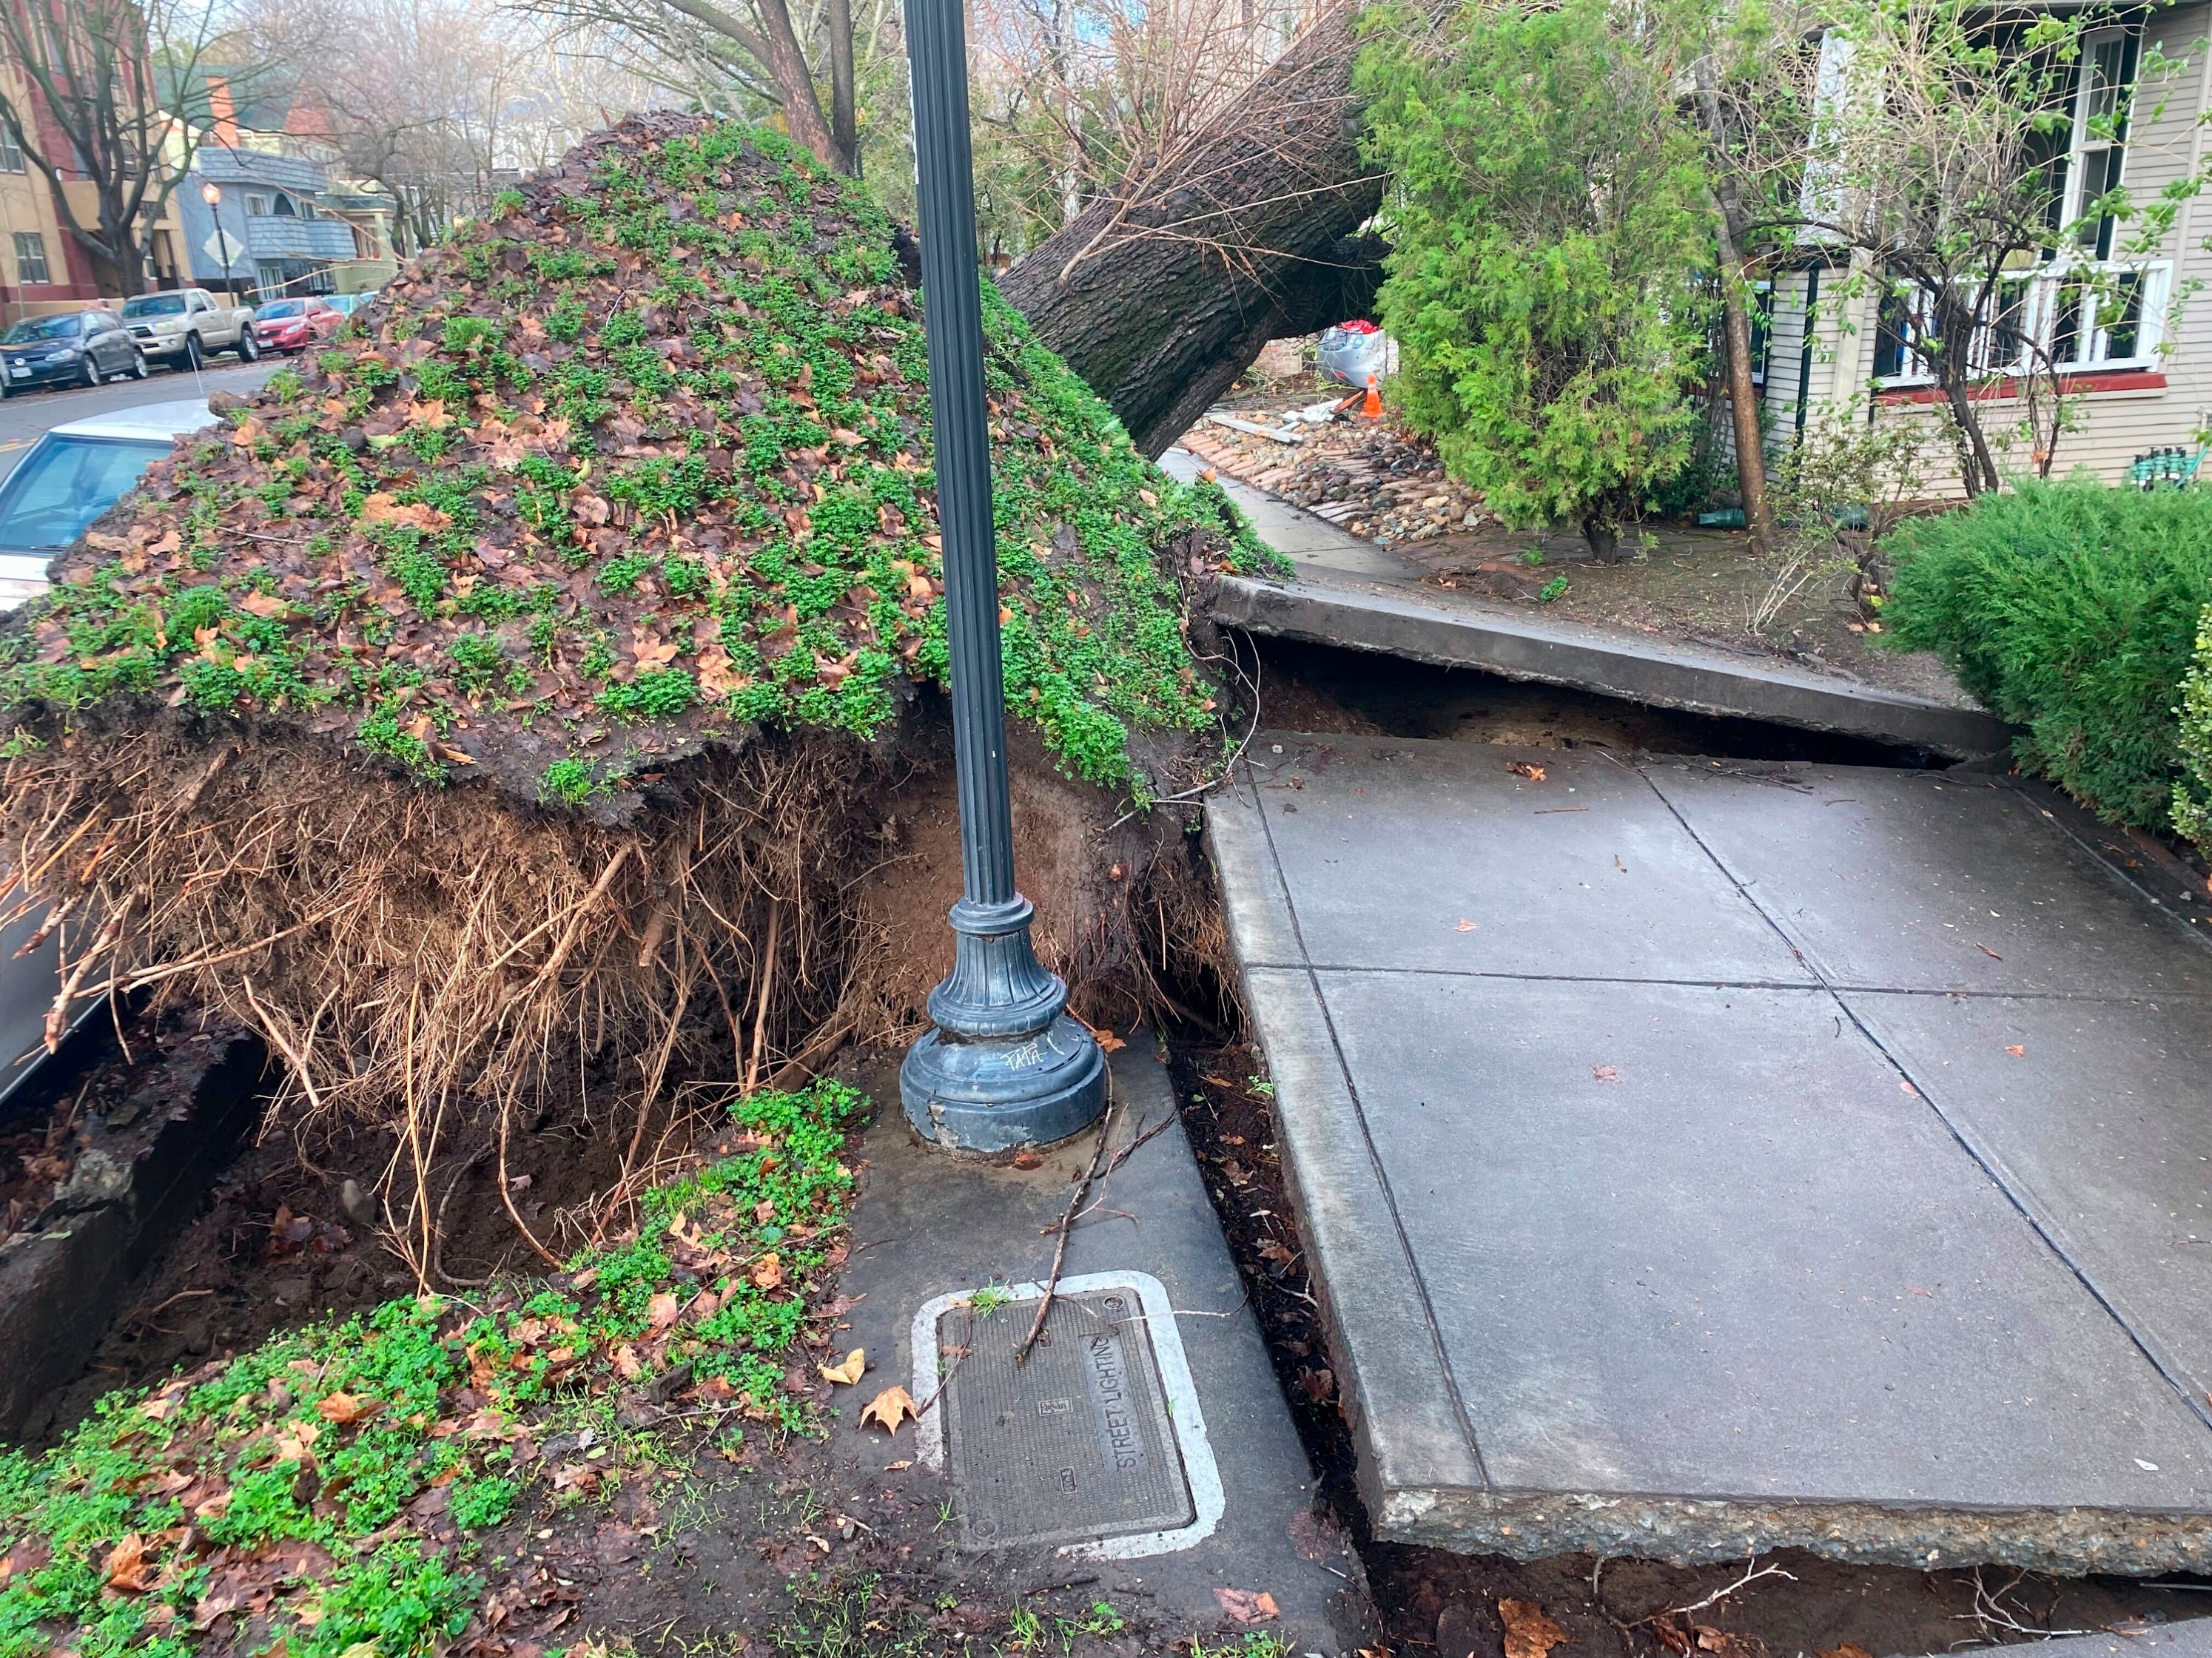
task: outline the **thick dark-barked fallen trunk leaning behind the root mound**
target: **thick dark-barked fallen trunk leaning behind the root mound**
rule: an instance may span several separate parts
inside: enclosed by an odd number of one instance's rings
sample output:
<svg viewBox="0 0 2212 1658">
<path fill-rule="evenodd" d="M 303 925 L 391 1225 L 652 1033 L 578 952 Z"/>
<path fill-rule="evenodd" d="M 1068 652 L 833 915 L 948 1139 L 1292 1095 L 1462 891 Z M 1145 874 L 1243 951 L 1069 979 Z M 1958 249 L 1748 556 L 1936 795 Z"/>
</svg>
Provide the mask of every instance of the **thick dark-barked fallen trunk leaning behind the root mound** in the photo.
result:
<svg viewBox="0 0 2212 1658">
<path fill-rule="evenodd" d="M 1148 455 L 1172 444 L 1270 338 L 1358 316 L 1383 206 L 1360 161 L 1338 4 L 1146 179 L 1086 206 L 1000 292 L 1106 398 Z"/>
</svg>

